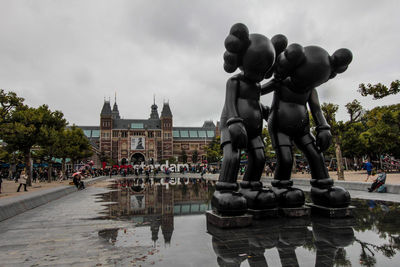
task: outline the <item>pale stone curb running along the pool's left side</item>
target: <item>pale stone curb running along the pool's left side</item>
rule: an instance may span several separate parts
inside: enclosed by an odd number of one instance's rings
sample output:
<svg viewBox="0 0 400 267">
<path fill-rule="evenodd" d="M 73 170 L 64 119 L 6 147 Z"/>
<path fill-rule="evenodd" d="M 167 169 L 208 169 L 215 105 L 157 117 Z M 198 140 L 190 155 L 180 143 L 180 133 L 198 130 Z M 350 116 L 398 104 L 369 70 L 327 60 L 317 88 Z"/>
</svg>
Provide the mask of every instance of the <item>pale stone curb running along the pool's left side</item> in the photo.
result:
<svg viewBox="0 0 400 267">
<path fill-rule="evenodd" d="M 85 185 L 90 185 L 107 178 L 107 176 L 100 176 L 84 182 Z M 29 195 L 0 199 L 0 222 L 76 191 L 75 186 L 60 186 L 32 192 Z"/>
</svg>

